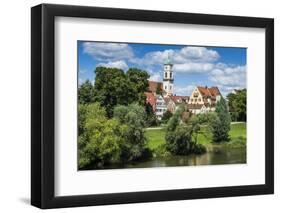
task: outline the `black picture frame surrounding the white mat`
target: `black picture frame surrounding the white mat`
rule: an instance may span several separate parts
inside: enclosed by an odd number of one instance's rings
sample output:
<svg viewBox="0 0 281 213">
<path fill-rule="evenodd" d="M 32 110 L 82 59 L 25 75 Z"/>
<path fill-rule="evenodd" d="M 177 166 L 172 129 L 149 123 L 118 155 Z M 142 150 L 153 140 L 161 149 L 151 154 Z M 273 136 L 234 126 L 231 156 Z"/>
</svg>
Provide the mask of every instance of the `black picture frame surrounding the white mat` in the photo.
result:
<svg viewBox="0 0 281 213">
<path fill-rule="evenodd" d="M 54 195 L 54 21 L 55 17 L 264 28 L 266 128 L 265 184 L 93 195 Z M 217 198 L 274 193 L 274 20 L 225 15 L 176 13 L 102 7 L 41 4 L 31 9 L 31 204 L 60 208 L 105 204 Z"/>
</svg>

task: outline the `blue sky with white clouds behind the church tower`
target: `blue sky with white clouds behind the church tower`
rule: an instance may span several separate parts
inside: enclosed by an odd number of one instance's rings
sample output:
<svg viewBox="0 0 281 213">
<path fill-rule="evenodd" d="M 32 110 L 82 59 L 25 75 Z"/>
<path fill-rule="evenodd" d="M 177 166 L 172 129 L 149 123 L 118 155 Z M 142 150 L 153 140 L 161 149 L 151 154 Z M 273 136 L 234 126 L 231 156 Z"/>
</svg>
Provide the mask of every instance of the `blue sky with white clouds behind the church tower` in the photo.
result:
<svg viewBox="0 0 281 213">
<path fill-rule="evenodd" d="M 79 84 L 95 81 L 98 66 L 146 70 L 162 82 L 163 64 L 173 63 L 174 94 L 191 95 L 195 86 L 217 86 L 225 96 L 246 88 L 246 48 L 78 41 Z"/>
</svg>

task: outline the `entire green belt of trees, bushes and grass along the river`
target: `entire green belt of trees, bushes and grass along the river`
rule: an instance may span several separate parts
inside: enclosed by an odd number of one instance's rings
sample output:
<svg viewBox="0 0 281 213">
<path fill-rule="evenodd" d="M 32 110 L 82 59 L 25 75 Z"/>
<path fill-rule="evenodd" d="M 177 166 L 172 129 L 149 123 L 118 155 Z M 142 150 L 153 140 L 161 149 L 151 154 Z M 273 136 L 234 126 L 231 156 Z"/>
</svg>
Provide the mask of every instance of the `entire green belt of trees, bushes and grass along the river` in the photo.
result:
<svg viewBox="0 0 281 213">
<path fill-rule="evenodd" d="M 222 98 L 215 112 L 186 119 L 188 109 L 181 105 L 159 122 L 145 100 L 146 71 L 97 67 L 95 76 L 94 85 L 85 81 L 78 89 L 80 170 L 123 168 L 156 157 L 203 155 L 213 145 L 246 146 L 246 90 L 229 94 L 228 103 Z"/>
</svg>

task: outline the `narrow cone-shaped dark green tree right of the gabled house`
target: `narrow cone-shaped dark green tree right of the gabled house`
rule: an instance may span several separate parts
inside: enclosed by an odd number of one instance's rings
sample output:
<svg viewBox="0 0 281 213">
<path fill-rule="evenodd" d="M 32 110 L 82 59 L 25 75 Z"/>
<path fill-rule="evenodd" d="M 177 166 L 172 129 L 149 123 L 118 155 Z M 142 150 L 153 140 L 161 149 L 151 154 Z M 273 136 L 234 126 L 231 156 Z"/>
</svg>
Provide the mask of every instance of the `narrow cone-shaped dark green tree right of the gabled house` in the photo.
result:
<svg viewBox="0 0 281 213">
<path fill-rule="evenodd" d="M 217 102 L 215 112 L 217 114 L 217 118 L 212 122 L 213 141 L 229 141 L 231 118 L 224 98 L 221 98 L 221 100 Z"/>
</svg>

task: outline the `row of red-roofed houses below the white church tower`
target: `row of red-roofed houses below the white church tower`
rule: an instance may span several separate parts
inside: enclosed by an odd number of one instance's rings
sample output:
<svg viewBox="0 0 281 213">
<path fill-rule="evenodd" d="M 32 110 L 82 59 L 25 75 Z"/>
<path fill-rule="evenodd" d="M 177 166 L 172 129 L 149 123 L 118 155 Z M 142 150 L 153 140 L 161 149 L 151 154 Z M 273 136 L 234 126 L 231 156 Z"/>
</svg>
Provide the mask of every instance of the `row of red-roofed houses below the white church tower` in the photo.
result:
<svg viewBox="0 0 281 213">
<path fill-rule="evenodd" d="M 221 98 L 218 87 L 196 86 L 190 96 L 178 96 L 167 93 L 163 89 L 163 83 L 155 81 L 149 81 L 149 89 L 145 95 L 146 102 L 152 106 L 159 120 L 167 110 L 174 113 L 181 104 L 185 104 L 193 114 L 214 111 Z"/>
</svg>

